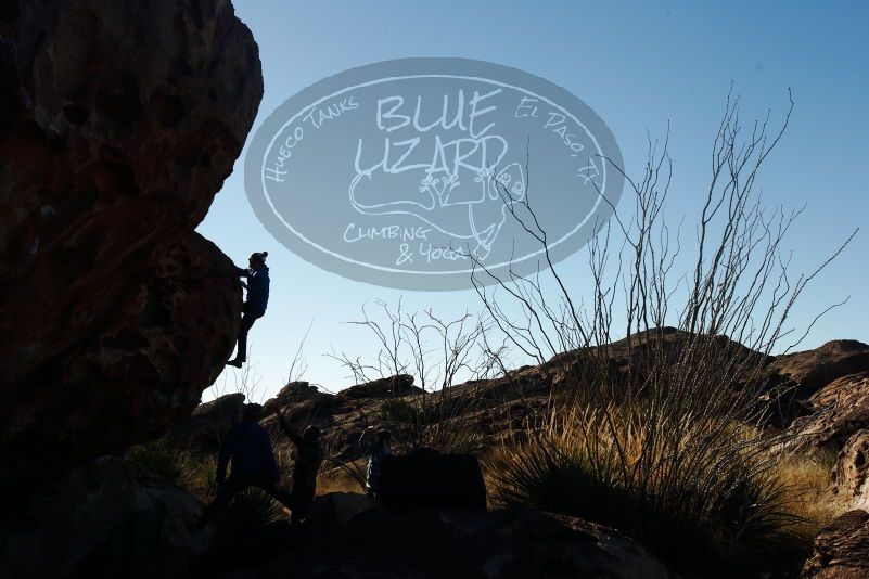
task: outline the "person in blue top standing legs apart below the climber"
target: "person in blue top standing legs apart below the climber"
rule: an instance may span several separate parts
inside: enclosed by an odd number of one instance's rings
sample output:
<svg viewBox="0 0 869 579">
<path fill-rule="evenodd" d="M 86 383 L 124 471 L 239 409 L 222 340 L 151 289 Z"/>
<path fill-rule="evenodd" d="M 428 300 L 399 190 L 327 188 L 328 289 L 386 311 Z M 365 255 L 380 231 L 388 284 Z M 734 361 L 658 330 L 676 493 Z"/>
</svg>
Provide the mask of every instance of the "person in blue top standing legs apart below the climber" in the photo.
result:
<svg viewBox="0 0 869 579">
<path fill-rule="evenodd" d="M 223 438 L 217 460 L 217 496 L 202 512 L 196 528 L 202 529 L 238 493 L 258 487 L 292 510 L 290 493 L 281 486 L 281 475 L 268 432 L 259 425 L 263 407 L 244 404 L 243 419 Z M 227 478 L 227 466 L 232 471 Z"/>
</svg>

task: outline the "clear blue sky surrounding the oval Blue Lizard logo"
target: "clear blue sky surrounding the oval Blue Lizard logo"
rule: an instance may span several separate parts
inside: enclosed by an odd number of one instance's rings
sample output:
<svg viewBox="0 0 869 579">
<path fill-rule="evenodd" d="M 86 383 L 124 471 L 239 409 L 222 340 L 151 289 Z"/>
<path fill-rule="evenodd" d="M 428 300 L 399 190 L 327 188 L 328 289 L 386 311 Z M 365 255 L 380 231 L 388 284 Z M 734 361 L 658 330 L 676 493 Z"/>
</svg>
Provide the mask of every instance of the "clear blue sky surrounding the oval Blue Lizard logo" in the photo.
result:
<svg viewBox="0 0 869 579">
<path fill-rule="evenodd" d="M 712 139 L 731 81 L 742 115 L 772 118 L 796 102 L 791 125 L 758 179 L 765 204 L 806 210 L 790 237 L 795 271 L 810 270 L 869 215 L 869 3 L 585 1 L 285 1 L 235 0 L 259 44 L 265 97 L 254 130 L 283 101 L 323 77 L 379 61 L 460 56 L 521 68 L 589 104 L 615 134 L 629 175 L 646 156 L 647 131 L 670 126 L 674 183 L 667 214 L 697 214 L 708 182 Z M 296 257 L 253 214 L 243 184 L 244 153 L 199 231 L 237 265 L 269 252 L 271 300 L 251 333 L 257 398 L 285 383 L 305 344 L 305 379 L 336 390 L 352 384 L 332 351 L 371 356 L 369 335 L 343 322 L 363 304 L 402 300 L 449 318 L 480 303 L 473 291 L 400 292 L 346 280 Z M 869 342 L 865 297 L 869 228 L 804 295 L 793 318 L 821 320 L 803 344 Z M 582 285 L 585 260 L 561 270 Z M 218 385 L 233 387 L 233 369 Z M 209 394 L 204 395 L 208 398 Z"/>
</svg>

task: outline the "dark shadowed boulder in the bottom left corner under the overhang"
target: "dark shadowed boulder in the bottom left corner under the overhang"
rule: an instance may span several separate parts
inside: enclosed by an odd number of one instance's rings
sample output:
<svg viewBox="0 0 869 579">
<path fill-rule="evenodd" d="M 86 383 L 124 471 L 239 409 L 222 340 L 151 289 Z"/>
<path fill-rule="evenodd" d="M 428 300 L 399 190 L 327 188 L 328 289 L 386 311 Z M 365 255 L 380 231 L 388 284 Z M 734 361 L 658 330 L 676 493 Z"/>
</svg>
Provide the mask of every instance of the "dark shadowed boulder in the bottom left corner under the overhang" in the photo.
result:
<svg viewBox="0 0 869 579">
<path fill-rule="evenodd" d="M 183 577 L 208 546 L 194 536 L 200 503 L 140 481 L 123 461 L 97 459 L 50 488 L 27 513 L 36 523 L 0 529 L 3 577 Z"/>
</svg>

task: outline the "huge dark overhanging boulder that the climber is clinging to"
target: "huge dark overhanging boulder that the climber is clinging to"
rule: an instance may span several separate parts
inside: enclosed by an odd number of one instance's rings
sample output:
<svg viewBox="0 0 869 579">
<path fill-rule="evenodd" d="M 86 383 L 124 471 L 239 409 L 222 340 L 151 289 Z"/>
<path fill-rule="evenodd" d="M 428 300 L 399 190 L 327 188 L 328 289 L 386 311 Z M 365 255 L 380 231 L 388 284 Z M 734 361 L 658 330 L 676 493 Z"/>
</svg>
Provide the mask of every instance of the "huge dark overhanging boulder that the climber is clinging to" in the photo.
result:
<svg viewBox="0 0 869 579">
<path fill-rule="evenodd" d="M 221 0 L 0 13 L 0 480 L 165 432 L 231 352 L 241 290 L 193 233 L 263 92 Z"/>
</svg>

